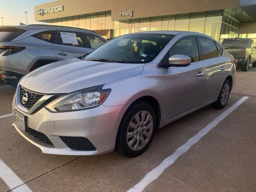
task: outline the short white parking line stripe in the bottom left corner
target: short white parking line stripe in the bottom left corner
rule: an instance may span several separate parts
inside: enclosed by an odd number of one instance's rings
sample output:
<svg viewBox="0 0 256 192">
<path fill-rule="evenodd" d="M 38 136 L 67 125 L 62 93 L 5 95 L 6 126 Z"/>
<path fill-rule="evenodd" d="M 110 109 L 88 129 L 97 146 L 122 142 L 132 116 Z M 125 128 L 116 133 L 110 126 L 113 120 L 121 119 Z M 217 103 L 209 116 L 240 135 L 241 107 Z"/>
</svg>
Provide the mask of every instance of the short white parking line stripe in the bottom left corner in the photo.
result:
<svg viewBox="0 0 256 192">
<path fill-rule="evenodd" d="M 26 184 L 0 159 L 0 178 L 12 192 L 32 192 Z M 14 189 L 15 188 L 15 189 Z"/>
</svg>

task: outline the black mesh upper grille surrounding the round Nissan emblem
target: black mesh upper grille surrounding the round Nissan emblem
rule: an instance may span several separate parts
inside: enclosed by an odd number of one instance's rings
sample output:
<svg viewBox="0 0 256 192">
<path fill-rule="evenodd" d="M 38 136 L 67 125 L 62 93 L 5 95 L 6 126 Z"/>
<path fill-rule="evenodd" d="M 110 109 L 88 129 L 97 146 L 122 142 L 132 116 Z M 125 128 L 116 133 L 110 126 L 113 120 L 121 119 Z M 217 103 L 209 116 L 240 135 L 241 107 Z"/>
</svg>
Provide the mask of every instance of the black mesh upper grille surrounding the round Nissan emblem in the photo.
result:
<svg viewBox="0 0 256 192">
<path fill-rule="evenodd" d="M 24 94 L 28 94 L 28 101 L 25 104 L 22 102 Z M 44 95 L 42 94 L 30 92 L 20 86 L 20 103 L 28 110 L 30 110 L 43 96 Z"/>
</svg>

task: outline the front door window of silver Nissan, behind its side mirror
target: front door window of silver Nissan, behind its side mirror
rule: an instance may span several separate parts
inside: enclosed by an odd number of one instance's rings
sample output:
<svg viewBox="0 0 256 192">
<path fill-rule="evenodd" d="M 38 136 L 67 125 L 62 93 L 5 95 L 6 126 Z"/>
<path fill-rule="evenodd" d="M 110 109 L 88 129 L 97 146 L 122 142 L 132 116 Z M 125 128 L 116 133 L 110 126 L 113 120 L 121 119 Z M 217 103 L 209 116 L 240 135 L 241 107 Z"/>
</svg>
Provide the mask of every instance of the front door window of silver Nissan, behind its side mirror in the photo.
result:
<svg viewBox="0 0 256 192">
<path fill-rule="evenodd" d="M 187 37 L 178 41 L 164 56 L 163 61 L 168 62 L 168 59 L 173 55 L 186 55 L 191 58 L 191 62 L 199 61 L 196 37 Z"/>
</svg>

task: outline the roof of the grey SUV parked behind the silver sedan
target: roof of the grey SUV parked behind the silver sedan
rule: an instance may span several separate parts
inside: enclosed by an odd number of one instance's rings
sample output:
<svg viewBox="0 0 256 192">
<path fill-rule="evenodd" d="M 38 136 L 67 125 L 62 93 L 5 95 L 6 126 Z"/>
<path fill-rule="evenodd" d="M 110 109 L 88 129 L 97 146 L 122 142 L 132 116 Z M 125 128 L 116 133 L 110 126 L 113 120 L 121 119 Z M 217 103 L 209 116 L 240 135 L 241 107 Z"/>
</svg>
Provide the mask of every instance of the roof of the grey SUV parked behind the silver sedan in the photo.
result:
<svg viewBox="0 0 256 192">
<path fill-rule="evenodd" d="M 58 26 L 58 25 L 45 25 L 45 24 L 31 24 L 31 25 L 15 25 L 15 26 L 1 26 L 1 27 L 14 27 L 14 28 L 20 28 L 24 30 L 36 30 L 36 29 L 45 29 L 45 30 L 76 30 L 76 31 L 82 31 L 82 32 L 92 32 L 94 31 L 82 29 L 82 28 L 76 28 L 76 27 L 68 27 L 68 26 Z"/>
</svg>

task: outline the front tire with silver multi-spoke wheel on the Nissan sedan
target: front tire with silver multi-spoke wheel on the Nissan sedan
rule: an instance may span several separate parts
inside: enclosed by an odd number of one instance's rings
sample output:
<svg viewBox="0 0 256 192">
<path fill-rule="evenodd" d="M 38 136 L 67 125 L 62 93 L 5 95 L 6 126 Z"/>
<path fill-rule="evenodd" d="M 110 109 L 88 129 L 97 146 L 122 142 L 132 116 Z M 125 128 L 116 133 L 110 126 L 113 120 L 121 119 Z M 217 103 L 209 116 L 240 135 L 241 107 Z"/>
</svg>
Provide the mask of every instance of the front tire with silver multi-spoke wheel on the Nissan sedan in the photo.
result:
<svg viewBox="0 0 256 192">
<path fill-rule="evenodd" d="M 143 101 L 135 102 L 122 118 L 116 136 L 115 150 L 127 157 L 136 157 L 148 148 L 155 131 L 156 113 L 152 106 Z"/>
</svg>

